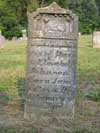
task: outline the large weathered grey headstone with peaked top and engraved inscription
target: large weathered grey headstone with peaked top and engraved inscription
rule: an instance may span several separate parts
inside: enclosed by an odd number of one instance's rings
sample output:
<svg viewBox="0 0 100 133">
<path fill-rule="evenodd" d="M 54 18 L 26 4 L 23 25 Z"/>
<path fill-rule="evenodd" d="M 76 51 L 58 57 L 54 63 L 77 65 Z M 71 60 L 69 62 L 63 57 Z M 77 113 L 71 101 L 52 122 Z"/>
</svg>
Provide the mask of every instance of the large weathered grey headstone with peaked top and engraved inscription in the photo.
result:
<svg viewBox="0 0 100 133">
<path fill-rule="evenodd" d="M 24 117 L 48 131 L 67 130 L 75 109 L 78 19 L 54 2 L 28 13 L 28 21 Z"/>
</svg>

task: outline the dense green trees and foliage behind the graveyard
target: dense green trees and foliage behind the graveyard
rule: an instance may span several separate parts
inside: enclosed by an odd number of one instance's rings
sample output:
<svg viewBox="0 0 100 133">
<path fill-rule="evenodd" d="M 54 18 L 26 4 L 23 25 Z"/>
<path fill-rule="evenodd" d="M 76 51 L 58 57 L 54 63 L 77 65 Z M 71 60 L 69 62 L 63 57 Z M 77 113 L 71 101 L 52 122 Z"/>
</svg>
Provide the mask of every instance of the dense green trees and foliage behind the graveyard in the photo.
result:
<svg viewBox="0 0 100 133">
<path fill-rule="evenodd" d="M 100 30 L 100 0 L 0 0 L 0 29 L 11 39 L 20 37 L 27 29 L 27 11 L 35 11 L 56 1 L 61 7 L 71 9 L 79 17 L 79 31 L 83 34 Z"/>
</svg>

